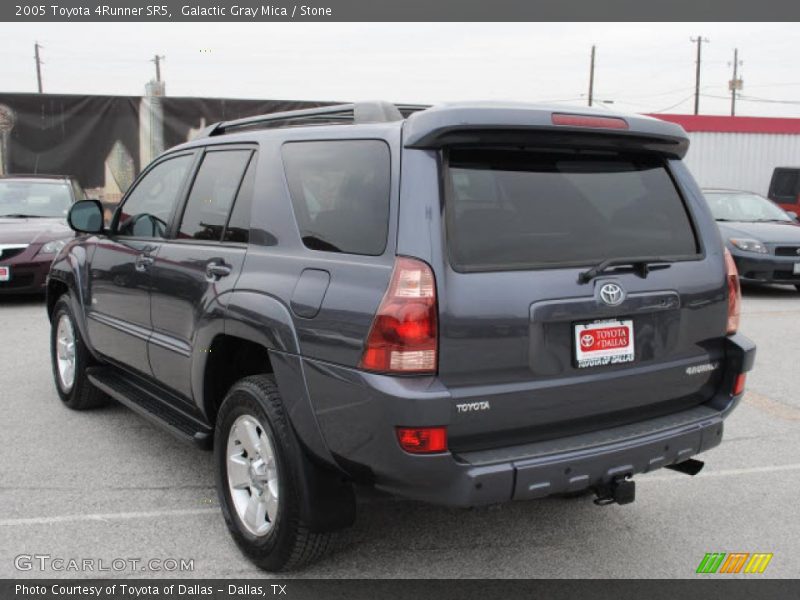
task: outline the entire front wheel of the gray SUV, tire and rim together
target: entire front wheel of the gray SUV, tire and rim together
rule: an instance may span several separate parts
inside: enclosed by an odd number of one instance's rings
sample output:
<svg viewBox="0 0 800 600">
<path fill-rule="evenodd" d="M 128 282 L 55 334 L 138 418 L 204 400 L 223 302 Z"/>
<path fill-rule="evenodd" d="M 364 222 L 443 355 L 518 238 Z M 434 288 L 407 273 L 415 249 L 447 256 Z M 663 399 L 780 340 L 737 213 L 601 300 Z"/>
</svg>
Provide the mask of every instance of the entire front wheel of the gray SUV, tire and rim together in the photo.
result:
<svg viewBox="0 0 800 600">
<path fill-rule="evenodd" d="M 108 396 L 94 387 L 86 368 L 96 363 L 75 323 L 66 296 L 53 308 L 50 326 L 50 361 L 61 401 L 72 410 L 86 410 L 105 404 Z"/>
</svg>

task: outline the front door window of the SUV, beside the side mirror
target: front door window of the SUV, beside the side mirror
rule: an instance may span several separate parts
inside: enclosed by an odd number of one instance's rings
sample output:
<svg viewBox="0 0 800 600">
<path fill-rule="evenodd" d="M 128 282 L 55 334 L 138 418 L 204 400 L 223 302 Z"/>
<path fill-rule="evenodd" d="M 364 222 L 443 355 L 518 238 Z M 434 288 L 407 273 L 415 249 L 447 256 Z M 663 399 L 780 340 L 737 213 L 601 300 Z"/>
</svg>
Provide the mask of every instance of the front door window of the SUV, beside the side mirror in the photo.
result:
<svg viewBox="0 0 800 600">
<path fill-rule="evenodd" d="M 192 155 L 177 156 L 153 167 L 122 205 L 117 221 L 121 236 L 164 238 Z"/>
</svg>

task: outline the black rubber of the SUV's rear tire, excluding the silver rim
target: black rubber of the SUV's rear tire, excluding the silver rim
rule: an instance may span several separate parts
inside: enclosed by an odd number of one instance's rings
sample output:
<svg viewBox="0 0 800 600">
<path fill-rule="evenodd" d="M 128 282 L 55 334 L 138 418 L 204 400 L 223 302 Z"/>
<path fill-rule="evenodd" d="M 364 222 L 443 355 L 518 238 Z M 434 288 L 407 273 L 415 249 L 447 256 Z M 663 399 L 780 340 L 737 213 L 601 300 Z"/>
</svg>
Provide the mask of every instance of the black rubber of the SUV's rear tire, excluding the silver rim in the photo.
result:
<svg viewBox="0 0 800 600">
<path fill-rule="evenodd" d="M 262 535 L 248 531 L 234 505 L 228 483 L 228 437 L 236 420 L 254 417 L 267 435 L 277 462 L 277 514 Z M 253 375 L 228 392 L 217 416 L 214 436 L 217 493 L 225 523 L 241 551 L 267 571 L 290 571 L 318 560 L 332 547 L 333 533 L 314 533 L 303 522 L 301 500 L 308 494 L 303 469 L 314 468 L 304 458 L 284 413 L 281 395 L 269 375 Z M 247 492 L 252 497 L 252 488 Z M 268 515 L 266 520 L 269 521 Z"/>
</svg>

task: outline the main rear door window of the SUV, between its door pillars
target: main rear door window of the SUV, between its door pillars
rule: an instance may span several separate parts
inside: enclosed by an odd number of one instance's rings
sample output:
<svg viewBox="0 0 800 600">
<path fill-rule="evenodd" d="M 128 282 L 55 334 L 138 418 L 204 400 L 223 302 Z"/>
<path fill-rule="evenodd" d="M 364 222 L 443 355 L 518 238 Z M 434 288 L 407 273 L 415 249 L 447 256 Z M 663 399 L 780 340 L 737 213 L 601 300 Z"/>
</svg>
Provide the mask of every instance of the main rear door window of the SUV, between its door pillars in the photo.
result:
<svg viewBox="0 0 800 600">
<path fill-rule="evenodd" d="M 252 150 L 206 153 L 192 184 L 178 239 L 222 239 L 222 231 L 251 154 Z"/>
</svg>

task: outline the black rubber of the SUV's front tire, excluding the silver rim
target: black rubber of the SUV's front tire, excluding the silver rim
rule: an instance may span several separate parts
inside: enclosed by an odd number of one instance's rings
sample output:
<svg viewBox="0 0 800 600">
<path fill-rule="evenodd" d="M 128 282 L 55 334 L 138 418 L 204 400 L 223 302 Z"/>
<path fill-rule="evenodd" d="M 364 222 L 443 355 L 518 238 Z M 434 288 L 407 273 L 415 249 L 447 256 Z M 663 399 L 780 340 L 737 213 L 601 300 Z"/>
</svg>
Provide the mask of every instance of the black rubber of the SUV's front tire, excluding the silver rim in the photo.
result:
<svg viewBox="0 0 800 600">
<path fill-rule="evenodd" d="M 71 386 L 65 386 L 62 383 L 57 362 L 58 324 L 62 318 L 69 319 L 74 336 L 75 366 L 74 380 Z M 61 296 L 56 301 L 50 322 L 50 363 L 53 367 L 53 379 L 59 398 L 65 406 L 72 410 L 86 410 L 102 406 L 108 401 L 108 396 L 94 387 L 86 377 L 86 368 L 97 364 L 97 361 L 83 343 L 81 332 L 75 323 L 75 317 L 66 296 Z"/>
</svg>

